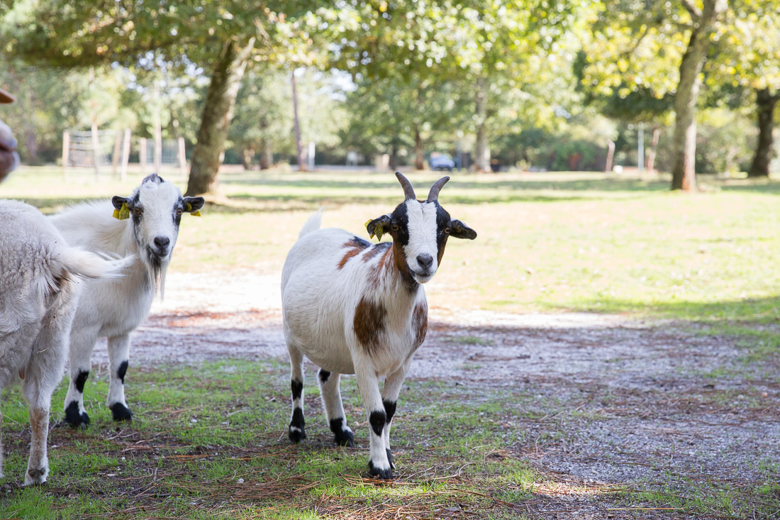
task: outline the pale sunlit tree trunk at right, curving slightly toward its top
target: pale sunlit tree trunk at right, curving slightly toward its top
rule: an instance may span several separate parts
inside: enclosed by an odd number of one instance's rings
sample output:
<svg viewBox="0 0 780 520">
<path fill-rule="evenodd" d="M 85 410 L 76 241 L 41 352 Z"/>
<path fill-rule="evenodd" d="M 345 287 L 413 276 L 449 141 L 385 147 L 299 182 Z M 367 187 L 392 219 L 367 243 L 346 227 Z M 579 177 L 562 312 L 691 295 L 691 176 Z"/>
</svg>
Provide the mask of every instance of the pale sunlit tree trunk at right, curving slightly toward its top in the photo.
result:
<svg viewBox="0 0 780 520">
<path fill-rule="evenodd" d="M 694 16 L 688 48 L 680 62 L 680 80 L 675 94 L 672 190 L 696 190 L 696 102 L 701 83 L 699 75 L 707 57 L 713 24 L 727 5 L 725 0 L 704 0 L 704 9 Z"/>
</svg>

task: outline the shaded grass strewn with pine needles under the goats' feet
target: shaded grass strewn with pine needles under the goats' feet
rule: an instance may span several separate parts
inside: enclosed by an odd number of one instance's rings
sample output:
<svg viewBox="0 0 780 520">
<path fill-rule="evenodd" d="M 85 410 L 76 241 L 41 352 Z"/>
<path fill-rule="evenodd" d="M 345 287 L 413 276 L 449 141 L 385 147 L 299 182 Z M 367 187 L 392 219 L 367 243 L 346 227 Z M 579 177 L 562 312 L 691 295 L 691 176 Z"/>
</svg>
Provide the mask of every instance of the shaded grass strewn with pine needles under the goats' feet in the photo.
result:
<svg viewBox="0 0 780 520">
<path fill-rule="evenodd" d="M 367 425 L 353 425 L 358 448 L 332 446 L 316 386 L 306 389 L 309 439 L 289 445 L 289 404 L 280 379 L 286 381 L 286 371 L 274 362 L 139 371 L 136 420 L 125 428 L 98 404 L 108 390 L 107 375 L 98 373 L 87 385 L 89 429 L 51 431 L 55 484 L 5 486 L 0 518 L 391 518 L 407 508 L 516 518 L 543 482 L 501 446 L 495 423 L 480 418 L 510 406 L 506 396 L 462 404 L 444 399 L 465 391 L 456 386 L 410 382 L 405 411 L 394 422 L 400 478 L 378 485 L 362 477 Z M 61 386 L 55 403 L 65 393 Z M 349 418 L 361 418 L 354 378 L 344 381 L 343 394 Z M 12 477 L 27 465 L 25 415 L 20 388 L 10 388 L 4 433 L 10 451 L 5 471 Z M 450 434 L 454 429 L 458 436 Z"/>
</svg>

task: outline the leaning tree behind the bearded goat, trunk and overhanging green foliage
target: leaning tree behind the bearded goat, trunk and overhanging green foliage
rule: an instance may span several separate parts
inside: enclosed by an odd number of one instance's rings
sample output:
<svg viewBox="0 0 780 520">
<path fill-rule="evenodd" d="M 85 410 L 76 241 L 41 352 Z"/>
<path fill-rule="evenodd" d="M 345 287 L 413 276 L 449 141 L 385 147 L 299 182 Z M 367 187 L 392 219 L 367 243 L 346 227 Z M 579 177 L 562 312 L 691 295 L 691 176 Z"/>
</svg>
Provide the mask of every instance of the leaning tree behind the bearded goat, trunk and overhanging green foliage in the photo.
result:
<svg viewBox="0 0 780 520">
<path fill-rule="evenodd" d="M 0 41 L 30 62 L 135 66 L 150 53 L 188 73 L 210 70 L 188 195 L 215 189 L 241 78 L 252 61 L 274 61 L 298 41 L 289 22 L 317 2 L 21 0 L 5 14 Z M 306 43 L 304 37 L 303 43 Z"/>
</svg>

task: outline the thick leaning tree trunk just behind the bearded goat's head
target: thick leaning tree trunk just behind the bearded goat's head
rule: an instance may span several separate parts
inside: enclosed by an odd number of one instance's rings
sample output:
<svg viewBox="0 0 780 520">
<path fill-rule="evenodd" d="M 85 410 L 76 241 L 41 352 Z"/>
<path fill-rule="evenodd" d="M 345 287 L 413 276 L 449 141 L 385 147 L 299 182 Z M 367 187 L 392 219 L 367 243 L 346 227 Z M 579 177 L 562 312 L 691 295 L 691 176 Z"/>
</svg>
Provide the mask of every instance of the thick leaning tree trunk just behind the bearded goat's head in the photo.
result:
<svg viewBox="0 0 780 520">
<path fill-rule="evenodd" d="M 254 41 L 254 38 L 250 38 L 243 48 L 232 41 L 222 47 L 222 53 L 211 73 L 211 84 L 208 86 L 197 144 L 190 163 L 190 180 L 186 191 L 188 197 L 217 190 L 220 155 Z"/>
</svg>

